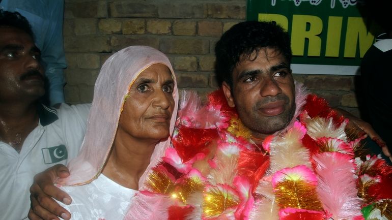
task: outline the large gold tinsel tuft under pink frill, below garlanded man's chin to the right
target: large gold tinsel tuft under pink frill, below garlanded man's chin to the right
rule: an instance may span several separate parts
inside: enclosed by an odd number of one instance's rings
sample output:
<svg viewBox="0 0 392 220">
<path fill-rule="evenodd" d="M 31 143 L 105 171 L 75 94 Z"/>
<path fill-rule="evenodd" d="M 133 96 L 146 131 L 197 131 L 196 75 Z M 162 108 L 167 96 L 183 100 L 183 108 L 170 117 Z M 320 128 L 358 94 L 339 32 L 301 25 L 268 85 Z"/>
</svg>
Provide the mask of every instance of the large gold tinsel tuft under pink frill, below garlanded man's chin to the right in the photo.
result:
<svg viewBox="0 0 392 220">
<path fill-rule="evenodd" d="M 322 211 L 322 204 L 317 197 L 316 186 L 304 181 L 284 180 L 275 190 L 276 201 L 281 208 L 298 208 Z"/>
</svg>

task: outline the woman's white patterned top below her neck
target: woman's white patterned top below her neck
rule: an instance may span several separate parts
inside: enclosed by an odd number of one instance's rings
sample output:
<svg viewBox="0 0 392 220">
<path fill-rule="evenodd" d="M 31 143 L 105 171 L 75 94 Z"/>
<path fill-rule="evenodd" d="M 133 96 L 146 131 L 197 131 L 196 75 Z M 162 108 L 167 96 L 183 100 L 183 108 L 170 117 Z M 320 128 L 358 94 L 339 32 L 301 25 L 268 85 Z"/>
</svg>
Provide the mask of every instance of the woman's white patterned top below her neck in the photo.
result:
<svg viewBox="0 0 392 220">
<path fill-rule="evenodd" d="M 103 174 L 90 184 L 60 188 L 71 195 L 70 205 L 60 205 L 71 213 L 72 220 L 121 220 L 136 192 Z"/>
</svg>

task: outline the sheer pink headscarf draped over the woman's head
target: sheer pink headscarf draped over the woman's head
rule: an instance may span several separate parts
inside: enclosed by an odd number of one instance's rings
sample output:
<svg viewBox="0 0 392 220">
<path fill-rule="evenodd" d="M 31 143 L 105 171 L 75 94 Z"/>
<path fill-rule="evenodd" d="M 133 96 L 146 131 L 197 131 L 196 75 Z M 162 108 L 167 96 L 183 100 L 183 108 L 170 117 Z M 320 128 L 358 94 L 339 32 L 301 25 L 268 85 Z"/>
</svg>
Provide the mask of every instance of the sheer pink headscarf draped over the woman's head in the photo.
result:
<svg viewBox="0 0 392 220">
<path fill-rule="evenodd" d="M 153 64 L 163 64 L 172 72 L 175 81 L 174 111 L 170 123 L 170 134 L 174 129 L 178 106 L 176 77 L 169 59 L 160 51 L 147 46 L 130 46 L 111 55 L 103 64 L 94 88 L 94 99 L 88 118 L 85 139 L 77 158 L 69 162 L 71 175 L 60 179 L 63 185 L 82 185 L 91 182 L 102 172 L 113 144 L 125 96 L 137 76 Z M 132 97 L 127 98 L 130 102 Z M 143 186 L 150 169 L 154 167 L 164 151 L 170 146 L 170 138 L 159 142 L 151 155 L 150 165 L 139 180 Z"/>
</svg>

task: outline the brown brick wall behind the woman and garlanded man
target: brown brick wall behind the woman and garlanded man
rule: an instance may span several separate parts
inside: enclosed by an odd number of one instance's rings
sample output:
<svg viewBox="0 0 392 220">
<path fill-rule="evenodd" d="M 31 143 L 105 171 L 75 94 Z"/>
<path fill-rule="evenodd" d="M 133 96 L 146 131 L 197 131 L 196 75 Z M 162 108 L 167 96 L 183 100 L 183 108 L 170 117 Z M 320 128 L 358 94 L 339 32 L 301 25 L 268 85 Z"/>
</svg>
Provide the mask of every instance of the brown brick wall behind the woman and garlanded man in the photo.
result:
<svg viewBox="0 0 392 220">
<path fill-rule="evenodd" d="M 179 87 L 204 95 L 217 88 L 216 41 L 245 16 L 246 0 L 65 0 L 66 101 L 91 102 L 100 66 L 112 53 L 130 45 L 147 45 L 165 53 Z M 331 106 L 359 115 L 354 77 L 294 77 Z"/>
</svg>

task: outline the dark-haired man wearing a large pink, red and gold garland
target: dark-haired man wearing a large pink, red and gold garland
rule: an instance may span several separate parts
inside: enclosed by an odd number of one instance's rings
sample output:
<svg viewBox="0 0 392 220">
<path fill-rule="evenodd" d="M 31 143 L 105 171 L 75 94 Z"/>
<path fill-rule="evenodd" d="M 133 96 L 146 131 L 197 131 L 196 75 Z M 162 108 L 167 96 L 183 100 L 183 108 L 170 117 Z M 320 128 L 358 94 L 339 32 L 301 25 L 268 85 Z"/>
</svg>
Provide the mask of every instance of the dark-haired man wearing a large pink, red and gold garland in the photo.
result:
<svg viewBox="0 0 392 220">
<path fill-rule="evenodd" d="M 281 27 L 239 23 L 215 53 L 222 89 L 183 96 L 174 149 L 126 219 L 387 219 L 391 169 L 360 160 L 363 136 L 294 82 Z"/>
</svg>

